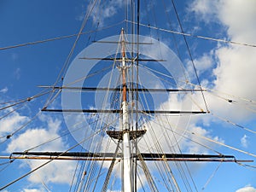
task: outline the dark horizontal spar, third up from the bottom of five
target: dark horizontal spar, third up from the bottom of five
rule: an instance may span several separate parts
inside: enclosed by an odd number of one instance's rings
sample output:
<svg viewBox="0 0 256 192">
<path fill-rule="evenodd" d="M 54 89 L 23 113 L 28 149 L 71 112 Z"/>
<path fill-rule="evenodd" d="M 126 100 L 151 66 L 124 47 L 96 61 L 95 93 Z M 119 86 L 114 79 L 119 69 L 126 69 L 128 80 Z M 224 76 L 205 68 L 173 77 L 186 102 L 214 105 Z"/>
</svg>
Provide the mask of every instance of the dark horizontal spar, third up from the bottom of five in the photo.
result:
<svg viewBox="0 0 256 192">
<path fill-rule="evenodd" d="M 123 88 L 108 88 L 108 87 L 66 87 L 66 86 L 44 86 L 40 85 L 41 88 L 51 88 L 54 90 L 84 90 L 84 91 L 95 91 L 95 90 L 123 90 Z M 139 88 L 139 89 L 127 89 L 127 91 L 145 91 L 145 92 L 197 92 L 206 91 L 200 89 L 152 89 L 152 88 Z"/>
</svg>

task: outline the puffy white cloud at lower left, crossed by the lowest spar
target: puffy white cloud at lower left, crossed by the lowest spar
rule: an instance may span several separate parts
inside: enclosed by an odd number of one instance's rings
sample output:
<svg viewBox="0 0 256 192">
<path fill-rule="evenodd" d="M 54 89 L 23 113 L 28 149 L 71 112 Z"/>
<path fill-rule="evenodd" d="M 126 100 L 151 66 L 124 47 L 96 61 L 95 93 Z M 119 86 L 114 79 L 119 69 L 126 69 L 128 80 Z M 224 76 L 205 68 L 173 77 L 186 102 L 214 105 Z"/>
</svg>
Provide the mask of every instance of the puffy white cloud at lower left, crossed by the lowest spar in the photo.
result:
<svg viewBox="0 0 256 192">
<path fill-rule="evenodd" d="M 30 128 L 26 129 L 25 132 L 21 133 L 17 137 L 12 137 L 11 142 L 8 144 L 6 151 L 24 151 L 29 148 L 38 146 L 50 139 L 60 137 L 58 131 L 61 127 L 60 119 L 53 119 L 50 116 L 42 115 L 41 123 L 45 127 Z M 28 142 L 29 141 L 29 142 Z M 34 151 L 65 151 L 67 150 L 67 144 L 63 138 L 56 139 L 53 142 L 44 144 L 38 148 L 33 149 Z M 21 166 L 27 166 L 32 170 L 42 165 L 45 160 L 27 160 L 23 161 Z M 28 180 L 32 183 L 70 183 L 73 177 L 73 172 L 76 163 L 74 161 L 60 161 L 54 160 L 47 166 L 40 168 L 37 172 L 32 173 Z M 26 189 L 27 191 L 33 191 L 36 189 Z M 24 191 L 26 191 L 24 190 Z"/>
</svg>

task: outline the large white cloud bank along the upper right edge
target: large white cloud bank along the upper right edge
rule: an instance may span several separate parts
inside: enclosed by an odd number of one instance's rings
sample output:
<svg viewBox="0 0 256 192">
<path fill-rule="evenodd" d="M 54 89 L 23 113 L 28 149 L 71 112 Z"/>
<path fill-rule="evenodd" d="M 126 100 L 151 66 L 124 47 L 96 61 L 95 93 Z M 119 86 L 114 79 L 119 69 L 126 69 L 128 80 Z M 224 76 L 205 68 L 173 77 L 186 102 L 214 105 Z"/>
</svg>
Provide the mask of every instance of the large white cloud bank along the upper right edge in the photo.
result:
<svg viewBox="0 0 256 192">
<path fill-rule="evenodd" d="M 223 26 L 222 28 L 227 29 L 228 39 L 247 44 L 256 43 L 256 26 L 252 25 L 256 17 L 255 8 L 256 2 L 253 0 L 246 2 L 195 0 L 191 5 L 191 10 L 195 11 L 198 18 L 206 22 L 216 20 L 220 26 Z M 212 71 L 215 78 L 212 82 L 213 89 L 218 90 L 218 94 L 224 92 L 232 96 L 256 100 L 256 92 L 253 90 L 256 74 L 256 49 L 234 44 L 218 44 L 212 49 L 212 53 L 217 62 L 217 67 Z M 207 54 L 204 54 L 195 61 L 206 62 L 206 56 Z M 201 65 L 197 67 L 200 71 Z M 216 100 L 213 96 L 207 96 L 207 102 L 210 111 L 227 119 L 236 120 L 236 123 L 241 120 L 253 119 L 253 114 L 247 108 L 241 108 L 244 105 L 241 101 L 238 101 L 238 105 L 236 105 L 226 101 L 225 103 L 221 102 L 219 98 Z M 239 106 L 239 104 L 241 105 Z"/>
</svg>

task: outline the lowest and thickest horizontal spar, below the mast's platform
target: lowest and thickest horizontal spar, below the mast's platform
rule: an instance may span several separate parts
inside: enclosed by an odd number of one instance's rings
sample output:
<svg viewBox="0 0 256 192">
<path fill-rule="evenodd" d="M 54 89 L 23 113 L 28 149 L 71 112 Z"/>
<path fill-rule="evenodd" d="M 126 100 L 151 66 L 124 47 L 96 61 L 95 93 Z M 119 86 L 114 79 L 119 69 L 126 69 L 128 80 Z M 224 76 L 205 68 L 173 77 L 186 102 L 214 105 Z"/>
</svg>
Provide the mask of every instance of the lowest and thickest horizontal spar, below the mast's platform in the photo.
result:
<svg viewBox="0 0 256 192">
<path fill-rule="evenodd" d="M 61 153 L 61 152 L 15 152 L 13 155 L 22 156 L 2 156 L 0 159 L 32 159 L 32 160 L 122 160 L 122 154 L 113 153 Z M 207 162 L 253 162 L 253 160 L 236 160 L 233 155 L 214 155 L 214 154 L 140 154 L 143 160 L 156 161 L 207 161 Z M 132 158 L 137 155 L 133 154 Z"/>
</svg>

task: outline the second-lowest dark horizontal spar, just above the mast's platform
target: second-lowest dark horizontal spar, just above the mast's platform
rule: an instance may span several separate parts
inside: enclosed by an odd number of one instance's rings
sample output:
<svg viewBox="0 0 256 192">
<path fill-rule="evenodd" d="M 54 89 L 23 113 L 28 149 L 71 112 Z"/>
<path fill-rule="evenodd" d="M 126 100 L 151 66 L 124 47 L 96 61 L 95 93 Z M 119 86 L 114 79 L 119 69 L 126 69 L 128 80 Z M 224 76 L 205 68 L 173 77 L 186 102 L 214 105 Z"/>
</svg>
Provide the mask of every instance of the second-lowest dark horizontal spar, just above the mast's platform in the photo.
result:
<svg viewBox="0 0 256 192">
<path fill-rule="evenodd" d="M 61 112 L 61 113 L 122 113 L 120 109 L 53 109 L 43 108 L 45 112 Z M 131 110 L 129 110 L 131 112 Z M 205 111 L 159 111 L 159 110 L 132 110 L 133 113 L 149 113 L 149 114 L 199 114 L 207 113 Z"/>
</svg>

